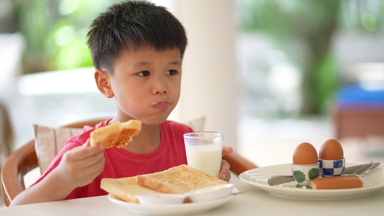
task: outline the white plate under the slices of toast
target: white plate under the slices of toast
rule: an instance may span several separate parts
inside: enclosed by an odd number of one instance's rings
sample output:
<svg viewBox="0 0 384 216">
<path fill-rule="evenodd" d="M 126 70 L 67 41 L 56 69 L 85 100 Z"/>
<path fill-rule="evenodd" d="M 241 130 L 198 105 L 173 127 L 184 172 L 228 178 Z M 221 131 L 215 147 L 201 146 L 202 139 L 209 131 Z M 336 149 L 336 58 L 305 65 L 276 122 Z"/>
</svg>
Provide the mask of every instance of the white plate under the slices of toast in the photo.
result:
<svg viewBox="0 0 384 216">
<path fill-rule="evenodd" d="M 232 193 L 238 193 L 237 188 L 232 189 Z M 117 203 L 124 208 L 129 209 L 135 213 L 142 214 L 157 214 L 157 215 L 174 215 L 174 214 L 192 214 L 208 211 L 217 206 L 221 206 L 224 203 L 230 201 L 235 195 L 230 195 L 225 198 L 215 199 L 204 202 L 196 203 L 182 203 L 182 204 L 139 204 L 129 203 L 116 198 L 112 194 L 108 194 L 108 199 L 113 203 Z"/>
</svg>

